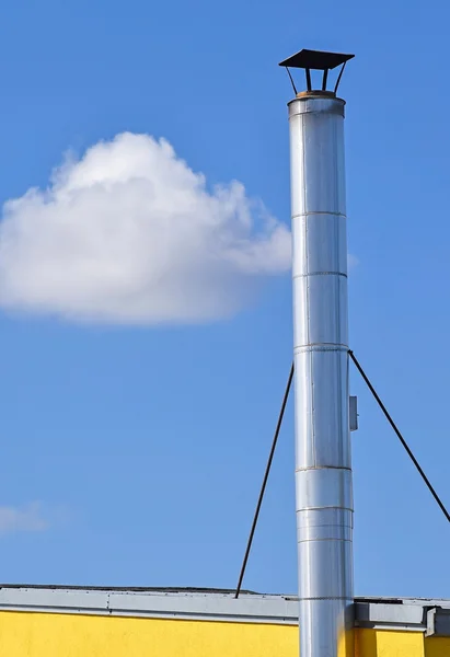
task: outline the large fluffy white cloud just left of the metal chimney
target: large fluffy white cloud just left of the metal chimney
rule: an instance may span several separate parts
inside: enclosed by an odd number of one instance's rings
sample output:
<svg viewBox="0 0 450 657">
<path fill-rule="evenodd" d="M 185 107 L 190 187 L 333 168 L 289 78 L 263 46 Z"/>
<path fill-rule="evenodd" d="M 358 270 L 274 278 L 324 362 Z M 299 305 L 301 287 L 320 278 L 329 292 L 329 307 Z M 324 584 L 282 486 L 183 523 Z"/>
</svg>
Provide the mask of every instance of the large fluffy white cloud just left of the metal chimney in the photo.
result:
<svg viewBox="0 0 450 657">
<path fill-rule="evenodd" d="M 0 304 L 93 322 L 217 320 L 287 272 L 290 249 L 242 184 L 208 189 L 166 141 L 123 134 L 4 205 Z"/>
</svg>

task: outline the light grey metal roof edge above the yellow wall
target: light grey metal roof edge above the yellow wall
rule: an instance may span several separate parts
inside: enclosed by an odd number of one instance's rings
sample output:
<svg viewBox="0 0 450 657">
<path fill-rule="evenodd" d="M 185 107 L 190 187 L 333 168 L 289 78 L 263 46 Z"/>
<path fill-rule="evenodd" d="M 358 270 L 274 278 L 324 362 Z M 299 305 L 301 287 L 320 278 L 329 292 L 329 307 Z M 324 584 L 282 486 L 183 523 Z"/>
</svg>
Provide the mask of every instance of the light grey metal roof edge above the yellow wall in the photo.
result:
<svg viewBox="0 0 450 657">
<path fill-rule="evenodd" d="M 0 611 L 297 625 L 298 598 L 228 589 L 0 585 Z M 357 598 L 356 624 L 450 636 L 450 600 Z"/>
</svg>

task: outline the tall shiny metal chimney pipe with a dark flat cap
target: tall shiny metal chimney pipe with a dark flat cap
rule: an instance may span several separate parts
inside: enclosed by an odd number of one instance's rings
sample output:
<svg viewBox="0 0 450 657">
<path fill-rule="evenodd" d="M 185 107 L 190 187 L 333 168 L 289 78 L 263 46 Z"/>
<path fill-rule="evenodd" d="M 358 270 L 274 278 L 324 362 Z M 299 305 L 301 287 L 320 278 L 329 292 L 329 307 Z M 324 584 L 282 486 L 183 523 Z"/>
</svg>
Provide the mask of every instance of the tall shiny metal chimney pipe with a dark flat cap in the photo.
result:
<svg viewBox="0 0 450 657">
<path fill-rule="evenodd" d="M 307 91 L 297 93 L 288 68 L 301 657 L 354 655 L 345 101 L 336 96 L 351 57 L 301 50 L 280 64 L 307 73 Z M 320 91 L 314 69 L 323 71 Z"/>
</svg>

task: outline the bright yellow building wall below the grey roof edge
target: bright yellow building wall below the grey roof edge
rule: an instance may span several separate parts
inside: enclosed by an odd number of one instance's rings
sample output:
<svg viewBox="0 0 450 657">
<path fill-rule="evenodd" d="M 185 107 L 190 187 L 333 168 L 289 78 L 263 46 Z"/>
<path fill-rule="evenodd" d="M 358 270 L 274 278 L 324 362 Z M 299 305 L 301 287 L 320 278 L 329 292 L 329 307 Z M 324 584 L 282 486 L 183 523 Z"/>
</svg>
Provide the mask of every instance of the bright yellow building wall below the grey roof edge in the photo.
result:
<svg viewBox="0 0 450 657">
<path fill-rule="evenodd" d="M 298 657 L 290 625 L 0 612 L 0 657 Z M 450 638 L 356 632 L 356 657 L 450 657 Z"/>
</svg>

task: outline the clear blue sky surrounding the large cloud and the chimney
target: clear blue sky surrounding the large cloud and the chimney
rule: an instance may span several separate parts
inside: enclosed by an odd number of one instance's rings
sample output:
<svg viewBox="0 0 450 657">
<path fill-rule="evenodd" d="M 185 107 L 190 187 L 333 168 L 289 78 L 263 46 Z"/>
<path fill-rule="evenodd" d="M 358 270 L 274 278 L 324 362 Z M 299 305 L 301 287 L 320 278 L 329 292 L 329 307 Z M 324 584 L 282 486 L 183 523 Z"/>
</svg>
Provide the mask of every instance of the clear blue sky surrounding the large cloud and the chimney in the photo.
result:
<svg viewBox="0 0 450 657">
<path fill-rule="evenodd" d="M 9 2 L 0 200 L 47 188 L 68 149 L 130 131 L 288 224 L 276 65 L 302 47 L 356 53 L 342 84 L 350 343 L 450 505 L 448 21 L 442 1 Z M 188 325 L 68 321 L 30 295 L 30 312 L 2 311 L 1 580 L 235 585 L 291 360 L 289 275 L 258 288 L 234 316 Z M 351 388 L 356 592 L 448 597 L 448 525 L 355 371 Z M 291 415 L 253 590 L 297 588 Z"/>
</svg>

